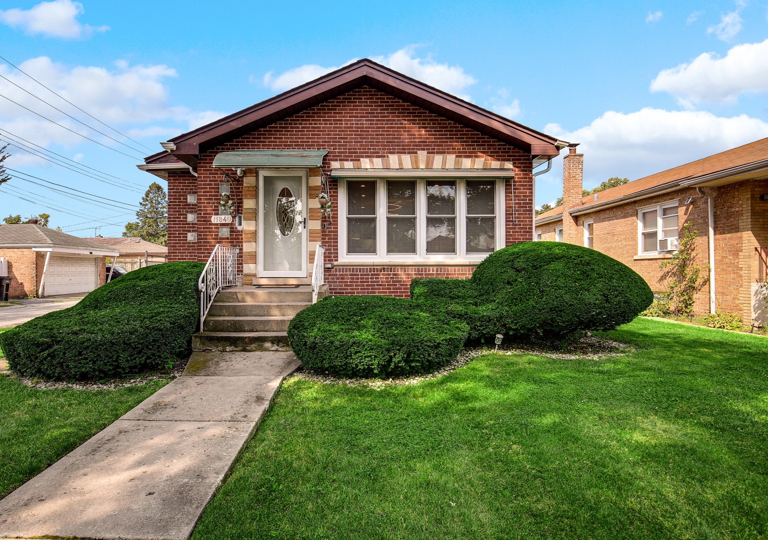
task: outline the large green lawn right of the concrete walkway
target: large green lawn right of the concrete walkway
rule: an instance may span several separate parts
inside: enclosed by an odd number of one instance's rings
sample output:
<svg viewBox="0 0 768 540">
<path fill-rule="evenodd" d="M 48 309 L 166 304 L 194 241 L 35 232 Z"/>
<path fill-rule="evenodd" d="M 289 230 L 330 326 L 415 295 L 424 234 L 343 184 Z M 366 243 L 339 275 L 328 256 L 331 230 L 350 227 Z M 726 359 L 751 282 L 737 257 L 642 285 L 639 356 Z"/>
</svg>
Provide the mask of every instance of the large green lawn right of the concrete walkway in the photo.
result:
<svg viewBox="0 0 768 540">
<path fill-rule="evenodd" d="M 637 352 L 491 354 L 381 390 L 290 379 L 193 538 L 768 534 L 768 339 L 606 335 Z"/>
</svg>

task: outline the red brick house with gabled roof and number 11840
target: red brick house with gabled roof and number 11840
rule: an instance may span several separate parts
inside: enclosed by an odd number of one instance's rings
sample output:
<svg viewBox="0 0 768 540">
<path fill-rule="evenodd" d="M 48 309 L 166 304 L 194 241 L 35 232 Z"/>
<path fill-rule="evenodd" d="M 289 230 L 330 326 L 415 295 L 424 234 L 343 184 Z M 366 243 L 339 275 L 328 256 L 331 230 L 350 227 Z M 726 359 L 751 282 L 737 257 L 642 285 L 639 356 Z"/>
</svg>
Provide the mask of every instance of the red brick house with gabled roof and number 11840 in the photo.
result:
<svg viewBox="0 0 768 540">
<path fill-rule="evenodd" d="M 246 284 L 309 283 L 323 245 L 329 293 L 406 296 L 413 277 L 468 277 L 531 240 L 533 169 L 566 145 L 361 60 L 175 137 L 139 168 L 168 182 L 169 260 L 223 243 L 241 248 Z"/>
</svg>

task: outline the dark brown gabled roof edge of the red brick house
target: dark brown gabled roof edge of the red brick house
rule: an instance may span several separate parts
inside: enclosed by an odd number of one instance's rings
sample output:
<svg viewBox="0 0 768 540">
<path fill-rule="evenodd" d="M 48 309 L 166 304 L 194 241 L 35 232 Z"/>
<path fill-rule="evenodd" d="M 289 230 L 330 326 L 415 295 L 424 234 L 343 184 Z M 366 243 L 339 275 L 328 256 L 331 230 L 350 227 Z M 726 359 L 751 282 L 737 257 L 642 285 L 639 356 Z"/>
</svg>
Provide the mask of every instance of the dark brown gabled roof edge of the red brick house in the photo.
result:
<svg viewBox="0 0 768 540">
<path fill-rule="evenodd" d="M 364 58 L 274 98 L 174 137 L 168 144 L 172 148 L 170 154 L 194 166 L 197 164 L 197 156 L 207 148 L 256 131 L 362 86 L 375 88 L 512 144 L 538 157 L 539 161 L 558 155 L 559 149 L 567 144 Z M 166 152 L 159 152 L 144 161 L 146 164 L 167 163 L 167 155 Z"/>
</svg>

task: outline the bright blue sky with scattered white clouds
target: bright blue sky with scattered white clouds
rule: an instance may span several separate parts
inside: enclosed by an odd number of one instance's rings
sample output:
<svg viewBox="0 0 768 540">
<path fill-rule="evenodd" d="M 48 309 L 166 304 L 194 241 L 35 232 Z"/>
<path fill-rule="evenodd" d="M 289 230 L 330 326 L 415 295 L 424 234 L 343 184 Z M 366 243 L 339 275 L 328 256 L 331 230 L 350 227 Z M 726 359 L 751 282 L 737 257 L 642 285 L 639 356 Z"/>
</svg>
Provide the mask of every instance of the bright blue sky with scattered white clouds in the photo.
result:
<svg viewBox="0 0 768 540">
<path fill-rule="evenodd" d="M 51 227 L 86 237 L 120 236 L 134 219 L 155 179 L 137 158 L 159 141 L 357 58 L 580 142 L 584 187 L 768 137 L 766 0 L 10 0 L 0 43 L 3 58 L 134 140 L 0 60 L 0 137 L 92 167 L 87 177 L 9 147 L 19 173 L 0 187 L 0 217 L 45 212 Z M 536 189 L 537 205 L 561 194 L 560 162 Z"/>
</svg>

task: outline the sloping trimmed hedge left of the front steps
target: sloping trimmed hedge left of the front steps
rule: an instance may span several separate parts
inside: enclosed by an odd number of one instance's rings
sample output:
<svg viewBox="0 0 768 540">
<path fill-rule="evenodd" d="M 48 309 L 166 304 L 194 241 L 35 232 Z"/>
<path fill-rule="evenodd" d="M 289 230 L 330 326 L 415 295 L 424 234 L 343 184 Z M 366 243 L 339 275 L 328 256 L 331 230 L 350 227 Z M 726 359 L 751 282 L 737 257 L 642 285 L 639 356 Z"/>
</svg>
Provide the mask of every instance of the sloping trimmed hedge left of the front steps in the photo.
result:
<svg viewBox="0 0 768 540">
<path fill-rule="evenodd" d="M 74 306 L 0 333 L 18 375 L 99 380 L 164 367 L 190 353 L 203 263 L 164 263 L 112 280 Z"/>
</svg>

